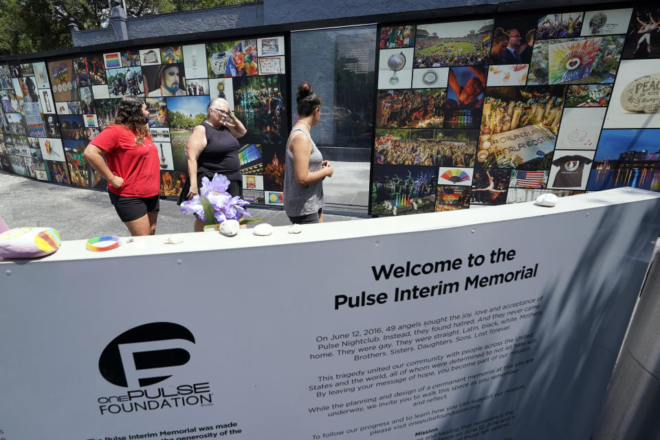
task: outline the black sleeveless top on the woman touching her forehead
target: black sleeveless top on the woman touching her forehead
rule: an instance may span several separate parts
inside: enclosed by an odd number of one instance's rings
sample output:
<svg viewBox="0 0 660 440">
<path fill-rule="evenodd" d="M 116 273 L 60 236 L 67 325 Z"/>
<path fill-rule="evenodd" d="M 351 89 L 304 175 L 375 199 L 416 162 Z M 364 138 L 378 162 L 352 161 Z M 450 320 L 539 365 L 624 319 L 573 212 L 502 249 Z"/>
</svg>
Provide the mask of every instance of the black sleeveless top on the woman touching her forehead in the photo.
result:
<svg viewBox="0 0 660 440">
<path fill-rule="evenodd" d="M 239 141 L 229 129 L 215 128 L 207 122 L 200 124 L 206 130 L 206 148 L 197 157 L 197 171 L 219 173 L 230 180 L 241 180 L 241 162 L 239 161 Z"/>
</svg>

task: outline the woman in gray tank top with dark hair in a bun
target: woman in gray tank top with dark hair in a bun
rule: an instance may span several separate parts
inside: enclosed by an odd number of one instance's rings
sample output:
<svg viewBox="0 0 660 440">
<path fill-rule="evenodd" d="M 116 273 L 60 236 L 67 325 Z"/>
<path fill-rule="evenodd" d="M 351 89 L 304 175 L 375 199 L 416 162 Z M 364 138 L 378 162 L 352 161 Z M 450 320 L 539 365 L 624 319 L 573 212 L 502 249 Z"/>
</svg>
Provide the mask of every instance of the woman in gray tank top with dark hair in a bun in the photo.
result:
<svg viewBox="0 0 660 440">
<path fill-rule="evenodd" d="M 323 179 L 333 168 L 323 160 L 309 130 L 318 123 L 321 98 L 305 81 L 298 85 L 298 116 L 289 135 L 284 175 L 284 209 L 292 223 L 323 222 Z"/>
</svg>

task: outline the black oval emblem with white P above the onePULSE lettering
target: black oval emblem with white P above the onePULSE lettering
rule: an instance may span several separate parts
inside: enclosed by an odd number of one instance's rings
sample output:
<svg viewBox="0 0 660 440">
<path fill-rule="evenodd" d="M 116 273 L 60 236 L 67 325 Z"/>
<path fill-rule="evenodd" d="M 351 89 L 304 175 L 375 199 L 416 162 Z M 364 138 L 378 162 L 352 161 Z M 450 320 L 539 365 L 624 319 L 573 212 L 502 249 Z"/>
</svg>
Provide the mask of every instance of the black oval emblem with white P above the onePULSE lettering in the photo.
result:
<svg viewBox="0 0 660 440">
<path fill-rule="evenodd" d="M 171 377 L 172 367 L 190 360 L 190 353 L 180 347 L 188 343 L 195 344 L 195 336 L 173 322 L 133 327 L 105 347 L 98 359 L 98 370 L 105 380 L 117 386 L 157 384 Z"/>
</svg>

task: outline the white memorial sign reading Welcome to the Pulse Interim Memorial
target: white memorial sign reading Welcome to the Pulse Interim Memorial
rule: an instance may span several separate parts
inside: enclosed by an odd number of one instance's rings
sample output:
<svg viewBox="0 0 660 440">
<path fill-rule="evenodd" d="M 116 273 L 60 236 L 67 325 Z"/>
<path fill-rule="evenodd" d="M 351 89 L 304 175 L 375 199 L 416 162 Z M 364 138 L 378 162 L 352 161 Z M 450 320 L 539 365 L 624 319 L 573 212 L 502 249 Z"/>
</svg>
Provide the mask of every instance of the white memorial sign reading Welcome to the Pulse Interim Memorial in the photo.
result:
<svg viewBox="0 0 660 440">
<path fill-rule="evenodd" d="M 589 439 L 659 208 L 624 188 L 0 263 L 2 437 Z"/>
</svg>

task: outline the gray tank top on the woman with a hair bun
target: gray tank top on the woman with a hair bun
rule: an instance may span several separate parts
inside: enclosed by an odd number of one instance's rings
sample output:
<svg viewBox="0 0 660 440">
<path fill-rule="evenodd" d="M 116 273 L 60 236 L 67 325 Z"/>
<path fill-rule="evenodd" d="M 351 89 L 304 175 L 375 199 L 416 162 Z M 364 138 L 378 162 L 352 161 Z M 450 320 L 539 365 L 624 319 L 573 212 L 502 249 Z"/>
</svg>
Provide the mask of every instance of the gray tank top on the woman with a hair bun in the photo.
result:
<svg viewBox="0 0 660 440">
<path fill-rule="evenodd" d="M 295 133 L 296 131 L 299 133 Z M 284 210 L 289 217 L 298 217 L 300 215 L 318 212 L 318 210 L 325 205 L 323 201 L 323 179 L 305 186 L 298 185 L 294 173 L 294 154 L 289 150 L 289 145 L 294 137 L 300 135 L 300 133 L 304 133 L 309 138 L 309 143 L 311 144 L 311 154 L 309 155 L 310 173 L 321 169 L 323 156 L 321 155 L 321 152 L 318 151 L 318 148 L 316 148 L 314 141 L 311 140 L 311 136 L 299 126 L 294 126 L 291 133 L 292 135 L 289 136 L 289 142 L 287 142 L 287 155 L 285 162 Z"/>
</svg>

